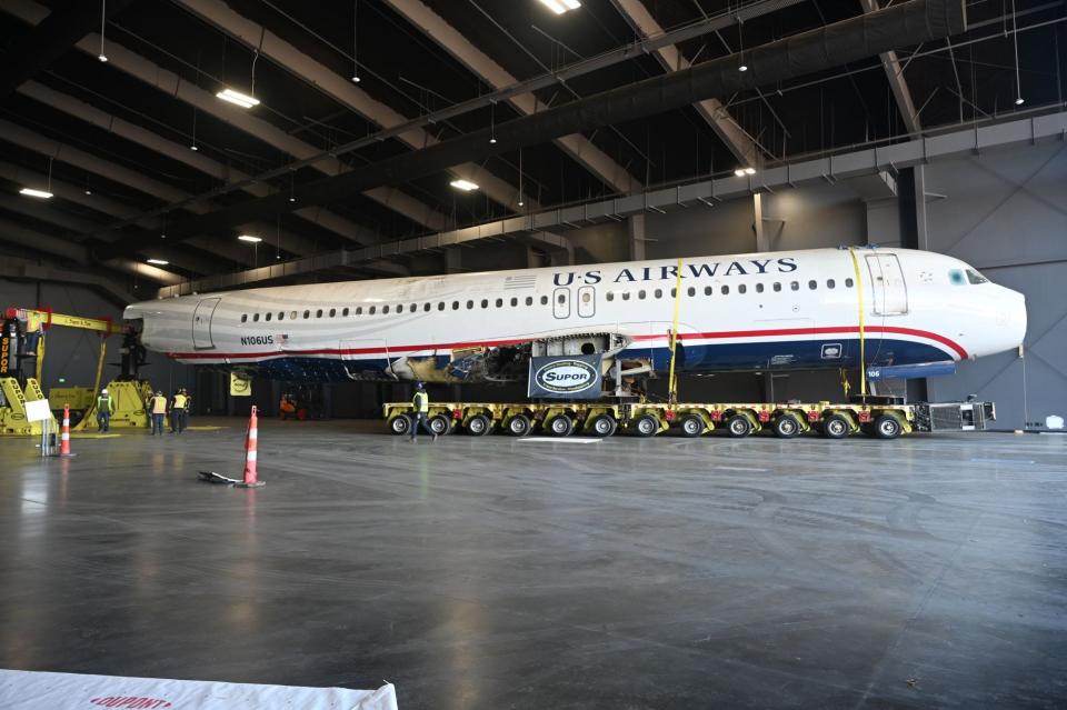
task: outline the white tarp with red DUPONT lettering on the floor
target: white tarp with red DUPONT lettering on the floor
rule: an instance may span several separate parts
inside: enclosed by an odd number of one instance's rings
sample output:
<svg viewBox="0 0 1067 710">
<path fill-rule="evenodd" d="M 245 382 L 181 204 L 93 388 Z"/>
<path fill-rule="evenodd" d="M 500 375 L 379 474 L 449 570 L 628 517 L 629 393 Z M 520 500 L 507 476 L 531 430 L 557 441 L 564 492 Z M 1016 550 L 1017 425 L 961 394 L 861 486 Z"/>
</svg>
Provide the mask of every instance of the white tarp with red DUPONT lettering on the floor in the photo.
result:
<svg viewBox="0 0 1067 710">
<path fill-rule="evenodd" d="M 348 690 L 0 669 L 0 708 L 397 710 L 397 693 L 390 684 L 378 690 Z"/>
</svg>

